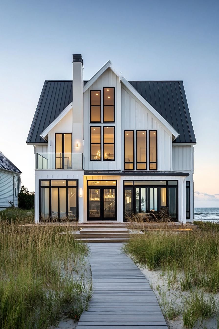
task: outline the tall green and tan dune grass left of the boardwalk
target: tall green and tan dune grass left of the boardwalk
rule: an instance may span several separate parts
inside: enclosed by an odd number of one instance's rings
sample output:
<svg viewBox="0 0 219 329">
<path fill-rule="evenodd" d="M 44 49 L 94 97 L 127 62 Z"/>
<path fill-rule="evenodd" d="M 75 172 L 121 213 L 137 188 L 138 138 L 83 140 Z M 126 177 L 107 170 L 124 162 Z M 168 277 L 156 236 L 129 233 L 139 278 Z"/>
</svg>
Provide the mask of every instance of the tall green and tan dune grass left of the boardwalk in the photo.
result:
<svg viewBox="0 0 219 329">
<path fill-rule="evenodd" d="M 0 217 L 1 328 L 48 328 L 65 316 L 77 320 L 91 291 L 86 244 L 61 234 L 58 225 L 20 224 Z"/>
</svg>

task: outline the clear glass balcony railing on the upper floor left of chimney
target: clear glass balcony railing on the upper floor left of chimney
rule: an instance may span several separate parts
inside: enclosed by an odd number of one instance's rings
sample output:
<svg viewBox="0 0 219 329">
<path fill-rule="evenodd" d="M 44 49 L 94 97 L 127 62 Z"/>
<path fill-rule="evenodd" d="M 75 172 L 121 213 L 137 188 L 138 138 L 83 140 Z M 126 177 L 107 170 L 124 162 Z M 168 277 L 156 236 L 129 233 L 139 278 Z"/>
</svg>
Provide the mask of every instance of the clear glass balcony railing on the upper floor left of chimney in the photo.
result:
<svg viewBox="0 0 219 329">
<path fill-rule="evenodd" d="M 83 169 L 82 153 L 36 153 L 35 169 Z"/>
</svg>

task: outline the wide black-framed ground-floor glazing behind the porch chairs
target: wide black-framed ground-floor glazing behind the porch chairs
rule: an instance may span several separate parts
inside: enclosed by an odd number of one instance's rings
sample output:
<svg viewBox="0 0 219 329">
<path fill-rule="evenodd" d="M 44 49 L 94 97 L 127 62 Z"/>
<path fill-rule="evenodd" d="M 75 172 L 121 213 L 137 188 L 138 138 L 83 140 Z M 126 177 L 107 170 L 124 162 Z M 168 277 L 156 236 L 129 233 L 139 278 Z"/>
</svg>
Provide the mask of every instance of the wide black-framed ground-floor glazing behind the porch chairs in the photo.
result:
<svg viewBox="0 0 219 329">
<path fill-rule="evenodd" d="M 178 219 L 178 181 L 124 181 L 124 220 L 133 213 L 158 213 L 162 207 L 168 207 L 172 220 Z"/>
</svg>

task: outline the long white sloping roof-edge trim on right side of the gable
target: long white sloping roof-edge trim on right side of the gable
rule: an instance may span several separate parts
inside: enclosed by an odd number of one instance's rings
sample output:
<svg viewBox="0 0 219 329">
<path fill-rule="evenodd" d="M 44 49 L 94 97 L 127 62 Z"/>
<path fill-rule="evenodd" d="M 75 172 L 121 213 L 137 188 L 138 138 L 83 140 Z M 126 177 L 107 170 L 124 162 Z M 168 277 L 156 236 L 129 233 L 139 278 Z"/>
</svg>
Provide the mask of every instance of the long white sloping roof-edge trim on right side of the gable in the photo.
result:
<svg viewBox="0 0 219 329">
<path fill-rule="evenodd" d="M 144 106 L 172 133 L 173 138 L 172 141 L 174 141 L 177 137 L 180 136 L 180 134 L 163 118 L 162 115 L 160 115 L 154 108 L 151 106 L 146 99 L 140 95 L 140 93 L 132 87 L 132 85 L 124 78 L 121 77 L 121 82 L 142 102 Z"/>
</svg>

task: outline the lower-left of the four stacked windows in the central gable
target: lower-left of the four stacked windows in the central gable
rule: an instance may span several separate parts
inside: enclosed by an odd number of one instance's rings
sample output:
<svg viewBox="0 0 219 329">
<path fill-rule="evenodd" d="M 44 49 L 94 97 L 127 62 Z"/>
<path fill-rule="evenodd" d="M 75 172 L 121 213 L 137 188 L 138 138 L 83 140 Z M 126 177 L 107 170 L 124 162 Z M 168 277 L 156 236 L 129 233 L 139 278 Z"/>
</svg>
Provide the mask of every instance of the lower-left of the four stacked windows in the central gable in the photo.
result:
<svg viewBox="0 0 219 329">
<path fill-rule="evenodd" d="M 90 127 L 90 161 L 101 161 L 101 127 Z"/>
</svg>

